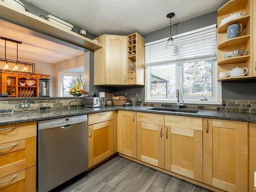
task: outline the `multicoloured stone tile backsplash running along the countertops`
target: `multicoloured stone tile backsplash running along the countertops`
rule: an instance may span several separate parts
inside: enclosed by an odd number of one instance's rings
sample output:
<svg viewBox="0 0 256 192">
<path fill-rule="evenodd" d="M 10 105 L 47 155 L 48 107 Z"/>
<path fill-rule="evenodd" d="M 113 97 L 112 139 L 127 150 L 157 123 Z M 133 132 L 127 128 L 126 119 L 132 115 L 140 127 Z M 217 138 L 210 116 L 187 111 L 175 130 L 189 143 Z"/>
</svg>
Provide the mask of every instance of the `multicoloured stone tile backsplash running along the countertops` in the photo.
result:
<svg viewBox="0 0 256 192">
<path fill-rule="evenodd" d="M 113 94 L 106 94 L 107 99 L 111 99 Z M 30 103 L 30 108 L 19 109 L 19 103 Z M 132 106 L 156 106 L 166 108 L 177 108 L 176 103 L 152 103 L 145 102 L 145 99 L 131 98 Z M 18 99 L 0 100 L 0 113 L 41 111 L 54 109 L 80 108 L 84 106 L 84 98 L 47 98 L 47 99 Z M 256 113 L 256 100 L 222 100 L 221 105 L 206 104 L 185 104 L 185 109 L 197 110 L 225 110 Z"/>
</svg>

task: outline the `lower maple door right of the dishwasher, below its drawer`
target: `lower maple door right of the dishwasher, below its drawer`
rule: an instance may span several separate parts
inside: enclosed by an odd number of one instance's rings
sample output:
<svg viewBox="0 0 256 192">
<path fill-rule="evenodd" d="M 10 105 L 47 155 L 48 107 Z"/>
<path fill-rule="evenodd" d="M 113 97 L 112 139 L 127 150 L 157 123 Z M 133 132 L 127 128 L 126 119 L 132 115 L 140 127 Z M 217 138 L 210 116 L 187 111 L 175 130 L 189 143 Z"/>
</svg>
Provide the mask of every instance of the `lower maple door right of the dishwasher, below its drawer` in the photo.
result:
<svg viewBox="0 0 256 192">
<path fill-rule="evenodd" d="M 114 151 L 114 120 L 89 125 L 88 166 L 91 167 Z"/>
</svg>

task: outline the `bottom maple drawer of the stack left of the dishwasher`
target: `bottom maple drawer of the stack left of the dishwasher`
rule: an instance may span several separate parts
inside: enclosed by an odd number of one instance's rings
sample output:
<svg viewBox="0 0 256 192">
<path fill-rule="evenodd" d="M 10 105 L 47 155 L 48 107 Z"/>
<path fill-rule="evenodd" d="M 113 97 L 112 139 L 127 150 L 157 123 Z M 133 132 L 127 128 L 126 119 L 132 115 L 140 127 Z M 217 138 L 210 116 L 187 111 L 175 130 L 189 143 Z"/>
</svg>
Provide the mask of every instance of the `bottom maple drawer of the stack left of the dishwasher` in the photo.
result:
<svg viewBox="0 0 256 192">
<path fill-rule="evenodd" d="M 0 178 L 0 182 L 4 182 L 0 184 L 0 192 L 36 191 L 36 166 L 2 177 Z"/>
</svg>

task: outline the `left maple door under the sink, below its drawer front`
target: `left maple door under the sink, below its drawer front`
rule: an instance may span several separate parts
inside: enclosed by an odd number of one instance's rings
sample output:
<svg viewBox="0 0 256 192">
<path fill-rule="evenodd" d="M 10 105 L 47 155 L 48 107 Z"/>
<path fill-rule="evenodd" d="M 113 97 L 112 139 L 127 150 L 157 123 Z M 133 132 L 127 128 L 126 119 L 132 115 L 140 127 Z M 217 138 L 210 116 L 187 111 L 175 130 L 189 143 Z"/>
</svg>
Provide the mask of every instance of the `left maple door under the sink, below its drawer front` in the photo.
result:
<svg viewBox="0 0 256 192">
<path fill-rule="evenodd" d="M 137 159 L 164 167 L 163 125 L 137 122 Z"/>
</svg>

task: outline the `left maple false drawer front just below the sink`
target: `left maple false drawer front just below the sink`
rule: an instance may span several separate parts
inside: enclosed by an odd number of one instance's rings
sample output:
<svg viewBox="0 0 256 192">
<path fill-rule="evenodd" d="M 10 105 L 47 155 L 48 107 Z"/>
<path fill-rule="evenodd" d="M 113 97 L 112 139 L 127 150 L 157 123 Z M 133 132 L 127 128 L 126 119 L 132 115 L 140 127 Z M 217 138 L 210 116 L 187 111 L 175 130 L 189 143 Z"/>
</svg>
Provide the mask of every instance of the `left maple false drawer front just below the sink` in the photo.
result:
<svg viewBox="0 0 256 192">
<path fill-rule="evenodd" d="M 164 125 L 164 115 L 151 113 L 137 113 L 137 122 Z"/>
</svg>

